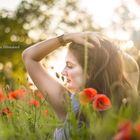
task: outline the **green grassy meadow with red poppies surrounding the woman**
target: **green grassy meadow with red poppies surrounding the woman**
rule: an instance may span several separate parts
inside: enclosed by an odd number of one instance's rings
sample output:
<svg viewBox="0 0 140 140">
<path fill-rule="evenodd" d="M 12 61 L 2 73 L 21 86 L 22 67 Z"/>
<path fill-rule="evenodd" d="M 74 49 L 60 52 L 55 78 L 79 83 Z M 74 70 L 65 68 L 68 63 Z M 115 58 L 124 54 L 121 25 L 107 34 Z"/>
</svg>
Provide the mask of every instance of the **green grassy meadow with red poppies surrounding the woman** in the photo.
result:
<svg viewBox="0 0 140 140">
<path fill-rule="evenodd" d="M 56 127 L 64 123 L 58 119 L 46 99 L 32 83 L 8 91 L 0 91 L 0 139 L 3 140 L 52 140 Z M 67 109 L 72 140 L 139 140 L 140 117 L 133 107 L 122 106 L 115 111 L 110 99 L 93 88 L 77 94 L 80 111 L 86 114 L 87 125 L 82 125 L 77 133 L 77 120 Z"/>
</svg>

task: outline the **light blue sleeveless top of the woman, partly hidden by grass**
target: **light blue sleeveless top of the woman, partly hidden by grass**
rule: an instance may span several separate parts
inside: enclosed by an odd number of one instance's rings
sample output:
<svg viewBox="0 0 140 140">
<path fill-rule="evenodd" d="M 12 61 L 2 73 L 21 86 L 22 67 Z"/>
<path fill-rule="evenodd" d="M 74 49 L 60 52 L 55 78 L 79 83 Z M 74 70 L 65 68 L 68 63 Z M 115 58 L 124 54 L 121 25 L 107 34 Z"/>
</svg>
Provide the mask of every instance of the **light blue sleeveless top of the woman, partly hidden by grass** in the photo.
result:
<svg viewBox="0 0 140 140">
<path fill-rule="evenodd" d="M 71 105 L 72 105 L 72 109 L 74 113 L 77 114 L 77 112 L 79 111 L 80 103 L 75 98 L 75 94 L 71 94 Z M 68 116 L 66 116 L 66 119 L 64 122 L 64 127 L 56 128 L 54 132 L 53 140 L 69 140 L 69 129 L 68 129 L 67 117 Z"/>
</svg>

